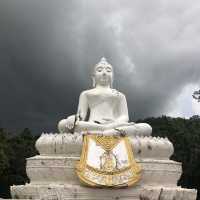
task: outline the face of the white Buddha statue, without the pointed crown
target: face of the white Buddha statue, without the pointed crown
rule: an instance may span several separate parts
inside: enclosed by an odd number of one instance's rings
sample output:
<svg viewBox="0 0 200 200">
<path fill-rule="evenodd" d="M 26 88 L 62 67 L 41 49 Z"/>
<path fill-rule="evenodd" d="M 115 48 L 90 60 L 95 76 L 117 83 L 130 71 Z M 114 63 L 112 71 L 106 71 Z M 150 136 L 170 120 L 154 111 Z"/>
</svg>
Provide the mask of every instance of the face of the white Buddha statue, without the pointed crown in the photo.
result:
<svg viewBox="0 0 200 200">
<path fill-rule="evenodd" d="M 95 85 L 111 86 L 113 69 L 111 65 L 97 65 L 94 71 Z"/>
</svg>

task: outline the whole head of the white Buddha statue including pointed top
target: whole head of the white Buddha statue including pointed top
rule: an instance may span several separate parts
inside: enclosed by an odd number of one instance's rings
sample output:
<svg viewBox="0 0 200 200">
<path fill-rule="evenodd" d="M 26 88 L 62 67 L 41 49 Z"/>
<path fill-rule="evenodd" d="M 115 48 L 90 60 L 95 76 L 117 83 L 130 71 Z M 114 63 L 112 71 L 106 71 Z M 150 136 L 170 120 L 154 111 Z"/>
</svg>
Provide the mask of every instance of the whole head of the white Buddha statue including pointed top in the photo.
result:
<svg viewBox="0 0 200 200">
<path fill-rule="evenodd" d="M 104 57 L 95 65 L 92 79 L 93 87 L 96 87 L 96 85 L 112 87 L 113 68 Z"/>
</svg>

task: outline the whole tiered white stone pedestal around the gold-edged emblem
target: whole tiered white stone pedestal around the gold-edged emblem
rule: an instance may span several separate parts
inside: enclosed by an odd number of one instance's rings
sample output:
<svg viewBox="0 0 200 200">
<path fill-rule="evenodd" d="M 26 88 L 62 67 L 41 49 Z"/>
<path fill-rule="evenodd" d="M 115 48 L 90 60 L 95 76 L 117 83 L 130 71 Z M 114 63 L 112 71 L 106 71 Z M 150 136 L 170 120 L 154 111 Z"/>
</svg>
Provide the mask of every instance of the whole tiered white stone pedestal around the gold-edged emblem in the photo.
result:
<svg viewBox="0 0 200 200">
<path fill-rule="evenodd" d="M 181 163 L 169 160 L 173 153 L 169 140 L 154 137 L 132 137 L 130 140 L 136 161 L 142 166 L 141 180 L 135 186 L 122 189 L 82 186 L 75 173 L 82 137 L 76 134 L 43 134 L 36 142 L 40 155 L 27 159 L 30 183 L 12 186 L 12 197 L 60 200 L 196 199 L 196 190 L 177 187 L 182 173 Z"/>
</svg>

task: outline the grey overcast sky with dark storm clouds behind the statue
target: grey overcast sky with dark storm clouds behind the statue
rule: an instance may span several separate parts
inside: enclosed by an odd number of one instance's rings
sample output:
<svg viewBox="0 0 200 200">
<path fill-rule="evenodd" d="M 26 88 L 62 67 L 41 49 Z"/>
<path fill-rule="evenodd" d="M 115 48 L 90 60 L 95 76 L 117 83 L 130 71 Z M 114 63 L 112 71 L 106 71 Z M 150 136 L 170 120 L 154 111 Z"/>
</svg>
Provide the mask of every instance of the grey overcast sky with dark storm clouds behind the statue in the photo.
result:
<svg viewBox="0 0 200 200">
<path fill-rule="evenodd" d="M 199 114 L 199 19 L 199 0 L 0 0 L 0 126 L 55 131 L 102 56 L 132 120 Z"/>
</svg>

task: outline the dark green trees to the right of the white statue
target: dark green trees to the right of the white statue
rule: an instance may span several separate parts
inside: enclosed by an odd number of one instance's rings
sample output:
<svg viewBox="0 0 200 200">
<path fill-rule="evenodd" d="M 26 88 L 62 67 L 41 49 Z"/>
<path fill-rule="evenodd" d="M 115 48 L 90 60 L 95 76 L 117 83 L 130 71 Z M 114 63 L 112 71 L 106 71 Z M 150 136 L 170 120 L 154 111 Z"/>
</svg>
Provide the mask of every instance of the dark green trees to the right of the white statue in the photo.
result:
<svg viewBox="0 0 200 200">
<path fill-rule="evenodd" d="M 142 120 L 140 120 L 142 121 Z M 168 137 L 174 145 L 171 159 L 182 162 L 183 173 L 178 182 L 200 191 L 200 117 L 190 119 L 162 116 L 143 120 L 153 127 L 153 136 Z M 200 194 L 197 200 L 200 200 Z"/>
</svg>

